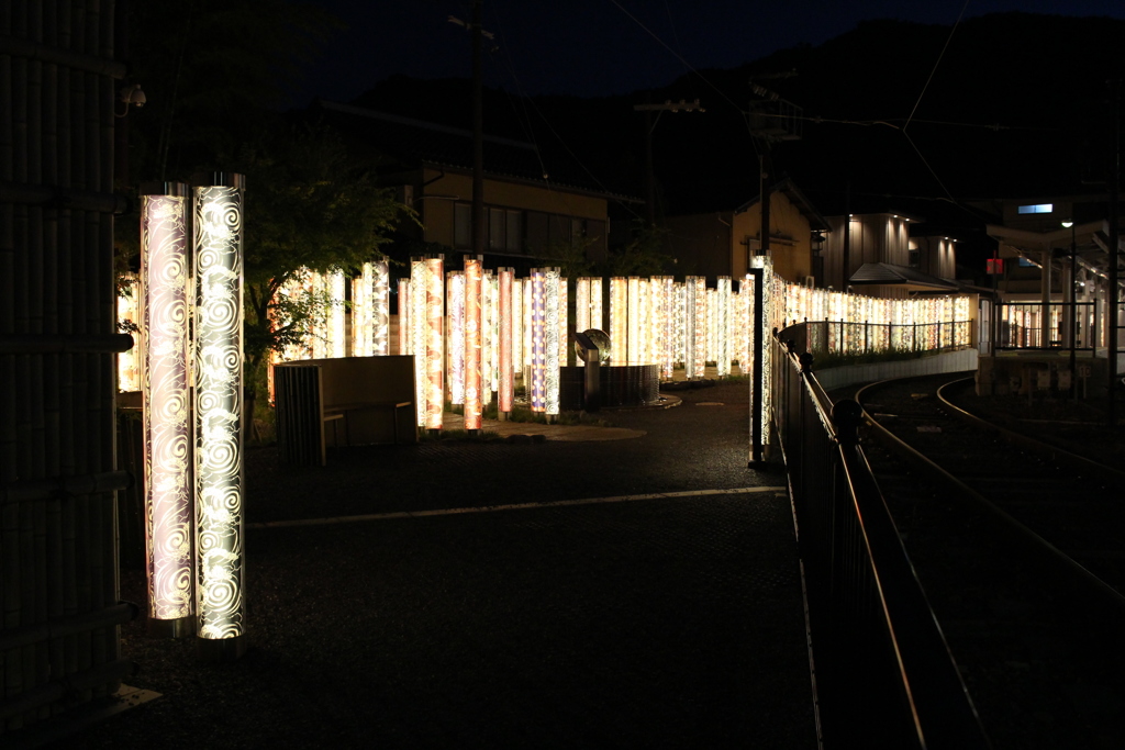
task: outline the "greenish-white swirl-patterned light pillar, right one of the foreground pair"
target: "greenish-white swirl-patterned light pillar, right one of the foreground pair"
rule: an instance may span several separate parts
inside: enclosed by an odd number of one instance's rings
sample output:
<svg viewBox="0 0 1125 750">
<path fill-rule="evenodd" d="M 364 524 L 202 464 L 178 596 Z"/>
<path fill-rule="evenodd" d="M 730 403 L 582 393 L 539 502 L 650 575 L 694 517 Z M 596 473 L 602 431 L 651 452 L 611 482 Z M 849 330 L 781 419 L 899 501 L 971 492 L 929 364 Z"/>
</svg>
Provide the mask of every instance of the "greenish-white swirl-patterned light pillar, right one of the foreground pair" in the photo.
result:
<svg viewBox="0 0 1125 750">
<path fill-rule="evenodd" d="M 241 174 L 195 189 L 195 503 L 199 653 L 245 652 Z"/>
</svg>

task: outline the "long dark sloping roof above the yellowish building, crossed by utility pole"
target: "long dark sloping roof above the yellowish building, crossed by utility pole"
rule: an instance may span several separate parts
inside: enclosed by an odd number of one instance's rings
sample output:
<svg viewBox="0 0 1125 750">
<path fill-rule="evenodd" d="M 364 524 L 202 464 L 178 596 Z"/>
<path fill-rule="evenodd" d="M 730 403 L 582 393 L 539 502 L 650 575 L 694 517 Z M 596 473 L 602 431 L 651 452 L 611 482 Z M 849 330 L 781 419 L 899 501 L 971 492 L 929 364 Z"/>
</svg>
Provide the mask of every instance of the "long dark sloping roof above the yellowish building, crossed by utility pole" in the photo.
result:
<svg viewBox="0 0 1125 750">
<path fill-rule="evenodd" d="M 471 130 L 323 99 L 317 99 L 313 107 L 333 127 L 403 166 L 472 169 Z M 490 135 L 485 135 L 483 141 L 484 170 L 489 177 L 570 188 L 616 200 L 637 200 L 608 190 L 596 178 L 579 174 L 577 169 L 548 171 L 533 143 Z"/>
</svg>

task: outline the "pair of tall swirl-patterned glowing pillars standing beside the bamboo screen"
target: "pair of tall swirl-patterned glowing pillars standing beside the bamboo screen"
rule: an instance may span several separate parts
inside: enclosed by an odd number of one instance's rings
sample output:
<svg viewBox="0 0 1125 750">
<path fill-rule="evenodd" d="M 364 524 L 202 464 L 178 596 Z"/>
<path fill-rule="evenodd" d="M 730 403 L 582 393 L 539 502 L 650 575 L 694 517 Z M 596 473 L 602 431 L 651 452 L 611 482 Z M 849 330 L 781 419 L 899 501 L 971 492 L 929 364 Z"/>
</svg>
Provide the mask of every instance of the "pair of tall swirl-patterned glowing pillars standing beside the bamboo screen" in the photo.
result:
<svg viewBox="0 0 1125 750">
<path fill-rule="evenodd" d="M 230 659 L 245 649 L 243 178 L 213 182 L 142 200 L 145 531 L 150 630 Z"/>
</svg>

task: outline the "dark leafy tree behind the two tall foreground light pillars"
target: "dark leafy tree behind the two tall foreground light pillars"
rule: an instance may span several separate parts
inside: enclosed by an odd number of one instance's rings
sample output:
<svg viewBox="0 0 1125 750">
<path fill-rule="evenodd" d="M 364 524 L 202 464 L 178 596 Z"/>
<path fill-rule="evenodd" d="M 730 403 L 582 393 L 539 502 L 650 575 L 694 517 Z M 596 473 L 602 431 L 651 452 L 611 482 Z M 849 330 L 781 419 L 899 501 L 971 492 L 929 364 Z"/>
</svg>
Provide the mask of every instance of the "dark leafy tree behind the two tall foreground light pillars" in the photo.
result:
<svg viewBox="0 0 1125 750">
<path fill-rule="evenodd" d="M 331 130 L 277 112 L 303 63 L 339 27 L 322 9 L 286 0 L 130 4 L 130 75 L 147 98 L 129 112 L 133 178 L 191 181 L 209 171 L 246 178 L 251 382 L 271 350 L 302 343 L 324 315 L 323 295 L 281 296 L 284 284 L 303 269 L 351 271 L 379 257 L 395 225 L 412 215 Z M 120 254 L 132 256 L 137 225 L 123 222 L 120 229 Z"/>
</svg>

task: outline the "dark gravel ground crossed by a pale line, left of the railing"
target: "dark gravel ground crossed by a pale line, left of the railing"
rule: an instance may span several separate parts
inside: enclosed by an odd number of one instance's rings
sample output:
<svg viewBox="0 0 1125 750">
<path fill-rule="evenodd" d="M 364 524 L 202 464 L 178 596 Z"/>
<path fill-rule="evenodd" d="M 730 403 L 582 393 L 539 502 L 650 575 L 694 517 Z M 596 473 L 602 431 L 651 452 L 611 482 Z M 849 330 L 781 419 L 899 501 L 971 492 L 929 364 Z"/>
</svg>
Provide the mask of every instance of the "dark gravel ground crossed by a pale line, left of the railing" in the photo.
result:
<svg viewBox="0 0 1125 750">
<path fill-rule="evenodd" d="M 812 748 L 784 493 L 746 468 L 746 386 L 614 412 L 615 442 L 248 457 L 250 644 L 123 631 L 163 697 L 60 748 Z M 685 493 L 330 525 L 263 522 Z M 143 575 L 123 571 L 143 600 Z"/>
</svg>

